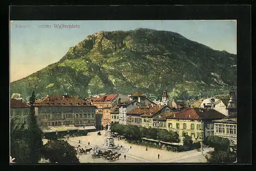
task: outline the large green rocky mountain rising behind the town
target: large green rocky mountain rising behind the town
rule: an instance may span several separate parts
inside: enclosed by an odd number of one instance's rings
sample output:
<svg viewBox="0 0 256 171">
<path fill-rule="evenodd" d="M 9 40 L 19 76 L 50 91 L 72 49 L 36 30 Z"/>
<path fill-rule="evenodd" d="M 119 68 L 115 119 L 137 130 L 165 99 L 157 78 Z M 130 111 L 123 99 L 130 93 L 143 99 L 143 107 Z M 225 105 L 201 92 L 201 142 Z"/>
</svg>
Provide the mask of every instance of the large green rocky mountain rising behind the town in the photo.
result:
<svg viewBox="0 0 256 171">
<path fill-rule="evenodd" d="M 89 35 L 59 62 L 11 83 L 11 94 L 37 96 L 135 91 L 162 94 L 183 87 L 210 94 L 237 85 L 237 55 L 215 51 L 180 34 L 151 29 Z"/>
</svg>

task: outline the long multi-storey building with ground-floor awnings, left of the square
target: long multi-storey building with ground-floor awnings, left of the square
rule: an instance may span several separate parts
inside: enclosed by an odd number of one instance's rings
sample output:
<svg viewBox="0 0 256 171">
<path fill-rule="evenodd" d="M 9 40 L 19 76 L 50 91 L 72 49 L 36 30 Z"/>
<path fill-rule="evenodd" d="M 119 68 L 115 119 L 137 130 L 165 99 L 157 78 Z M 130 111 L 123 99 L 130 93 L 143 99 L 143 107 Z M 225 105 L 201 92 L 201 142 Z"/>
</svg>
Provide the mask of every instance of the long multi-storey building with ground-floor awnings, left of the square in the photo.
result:
<svg viewBox="0 0 256 171">
<path fill-rule="evenodd" d="M 77 96 L 48 95 L 45 99 L 37 101 L 34 106 L 42 132 L 96 129 L 96 107 L 78 99 Z"/>
</svg>

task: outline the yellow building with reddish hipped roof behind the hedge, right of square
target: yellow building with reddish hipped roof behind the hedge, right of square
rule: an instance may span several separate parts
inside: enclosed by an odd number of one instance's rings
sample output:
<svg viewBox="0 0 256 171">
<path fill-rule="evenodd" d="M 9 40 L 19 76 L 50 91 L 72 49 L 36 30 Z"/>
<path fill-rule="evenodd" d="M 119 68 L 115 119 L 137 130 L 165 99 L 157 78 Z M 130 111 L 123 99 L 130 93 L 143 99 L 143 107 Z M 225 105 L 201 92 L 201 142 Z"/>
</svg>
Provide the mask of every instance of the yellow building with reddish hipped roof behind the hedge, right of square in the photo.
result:
<svg viewBox="0 0 256 171">
<path fill-rule="evenodd" d="M 166 129 L 177 132 L 180 137 L 188 135 L 194 141 L 202 141 L 204 137 L 214 135 L 212 120 L 224 117 L 214 109 L 190 108 L 167 116 Z"/>
</svg>

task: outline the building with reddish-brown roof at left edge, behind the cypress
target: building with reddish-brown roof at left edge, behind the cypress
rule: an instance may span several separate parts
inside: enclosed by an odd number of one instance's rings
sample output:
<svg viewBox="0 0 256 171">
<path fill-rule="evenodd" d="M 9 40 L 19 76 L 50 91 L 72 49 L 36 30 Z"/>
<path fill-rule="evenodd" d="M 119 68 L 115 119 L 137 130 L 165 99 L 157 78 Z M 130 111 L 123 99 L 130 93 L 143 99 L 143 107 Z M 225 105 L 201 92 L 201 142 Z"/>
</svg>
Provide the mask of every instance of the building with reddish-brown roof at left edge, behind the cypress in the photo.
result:
<svg viewBox="0 0 256 171">
<path fill-rule="evenodd" d="M 17 117 L 16 122 L 27 123 L 28 115 L 30 112 L 30 106 L 26 103 L 23 103 L 20 100 L 11 99 L 10 101 L 10 118 Z"/>
</svg>

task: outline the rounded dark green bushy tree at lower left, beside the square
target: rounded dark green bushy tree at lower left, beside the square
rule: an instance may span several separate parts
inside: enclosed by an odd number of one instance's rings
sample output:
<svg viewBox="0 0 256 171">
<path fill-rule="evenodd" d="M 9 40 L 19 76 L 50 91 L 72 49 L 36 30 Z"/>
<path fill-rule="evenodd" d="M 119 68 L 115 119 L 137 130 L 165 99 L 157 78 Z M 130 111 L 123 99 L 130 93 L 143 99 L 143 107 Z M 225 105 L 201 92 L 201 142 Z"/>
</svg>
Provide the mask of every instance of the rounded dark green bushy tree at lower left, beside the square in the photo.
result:
<svg viewBox="0 0 256 171">
<path fill-rule="evenodd" d="M 51 163 L 80 163 L 74 146 L 63 140 L 50 140 L 44 145 L 42 155 Z"/>
</svg>

